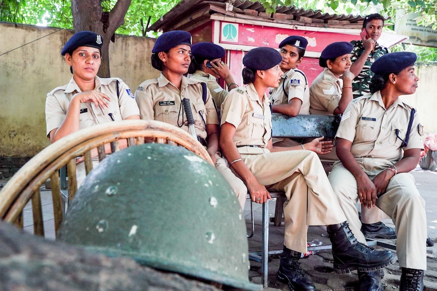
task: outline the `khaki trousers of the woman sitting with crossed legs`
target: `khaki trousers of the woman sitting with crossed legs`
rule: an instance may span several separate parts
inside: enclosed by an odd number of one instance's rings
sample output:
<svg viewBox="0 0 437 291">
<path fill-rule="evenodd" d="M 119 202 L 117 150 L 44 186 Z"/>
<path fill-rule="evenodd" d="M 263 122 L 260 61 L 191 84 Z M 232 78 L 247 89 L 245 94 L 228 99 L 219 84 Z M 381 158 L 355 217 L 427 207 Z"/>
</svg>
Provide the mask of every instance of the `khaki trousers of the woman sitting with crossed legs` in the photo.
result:
<svg viewBox="0 0 437 291">
<path fill-rule="evenodd" d="M 268 150 L 266 150 L 268 151 Z M 284 191 L 284 245 L 307 252 L 310 225 L 332 225 L 346 221 L 337 197 L 317 154 L 307 150 L 241 154 L 258 182 L 272 191 Z"/>
</svg>

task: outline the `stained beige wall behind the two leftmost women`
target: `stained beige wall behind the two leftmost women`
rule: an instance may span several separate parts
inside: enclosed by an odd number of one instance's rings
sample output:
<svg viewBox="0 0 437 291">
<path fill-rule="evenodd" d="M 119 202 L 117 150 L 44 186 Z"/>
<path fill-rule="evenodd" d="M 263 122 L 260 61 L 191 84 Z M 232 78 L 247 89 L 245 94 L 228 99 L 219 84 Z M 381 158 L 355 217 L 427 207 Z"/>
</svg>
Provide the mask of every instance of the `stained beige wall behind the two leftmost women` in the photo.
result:
<svg viewBox="0 0 437 291">
<path fill-rule="evenodd" d="M 49 144 L 46 95 L 71 78 L 60 51 L 72 34 L 0 23 L 0 157 L 33 156 Z M 110 45 L 111 75 L 122 78 L 132 92 L 159 75 L 150 64 L 154 43 L 153 38 L 116 35 Z"/>
</svg>

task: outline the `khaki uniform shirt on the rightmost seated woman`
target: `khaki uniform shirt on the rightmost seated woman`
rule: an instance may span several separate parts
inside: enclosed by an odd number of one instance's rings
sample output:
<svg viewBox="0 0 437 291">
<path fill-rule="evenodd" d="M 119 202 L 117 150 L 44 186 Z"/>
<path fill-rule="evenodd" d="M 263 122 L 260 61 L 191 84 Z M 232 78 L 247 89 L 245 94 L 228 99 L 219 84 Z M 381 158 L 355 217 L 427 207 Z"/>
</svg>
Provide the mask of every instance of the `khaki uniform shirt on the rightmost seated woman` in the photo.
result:
<svg viewBox="0 0 437 291">
<path fill-rule="evenodd" d="M 342 116 L 336 138 L 352 142 L 351 153 L 354 157 L 382 158 L 398 161 L 403 150 L 423 149 L 421 126 L 417 115 L 414 116 L 408 145 L 402 148 L 405 140 L 411 109 L 413 107 L 397 99 L 386 110 L 380 91 L 353 99 Z"/>
</svg>

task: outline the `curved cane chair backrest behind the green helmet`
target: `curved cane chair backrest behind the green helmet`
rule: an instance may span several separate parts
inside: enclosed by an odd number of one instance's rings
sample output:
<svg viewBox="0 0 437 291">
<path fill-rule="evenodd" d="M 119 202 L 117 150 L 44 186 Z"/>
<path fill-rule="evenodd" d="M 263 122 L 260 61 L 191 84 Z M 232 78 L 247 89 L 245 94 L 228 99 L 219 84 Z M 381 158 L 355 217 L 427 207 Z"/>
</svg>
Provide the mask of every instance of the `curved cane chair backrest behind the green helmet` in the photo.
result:
<svg viewBox="0 0 437 291">
<path fill-rule="evenodd" d="M 99 124 L 70 134 L 49 145 L 31 158 L 8 181 L 0 192 L 0 219 L 23 227 L 23 209 L 31 200 L 33 233 L 45 236 L 40 187 L 50 178 L 54 212 L 54 229 L 63 219 L 59 170 L 66 165 L 69 199 L 78 188 L 76 159 L 85 159 L 86 173 L 92 170 L 92 156 L 98 153 L 99 160 L 120 146 L 143 143 L 165 143 L 183 146 L 212 163 L 206 149 L 191 135 L 170 124 L 155 120 L 123 120 Z"/>
</svg>

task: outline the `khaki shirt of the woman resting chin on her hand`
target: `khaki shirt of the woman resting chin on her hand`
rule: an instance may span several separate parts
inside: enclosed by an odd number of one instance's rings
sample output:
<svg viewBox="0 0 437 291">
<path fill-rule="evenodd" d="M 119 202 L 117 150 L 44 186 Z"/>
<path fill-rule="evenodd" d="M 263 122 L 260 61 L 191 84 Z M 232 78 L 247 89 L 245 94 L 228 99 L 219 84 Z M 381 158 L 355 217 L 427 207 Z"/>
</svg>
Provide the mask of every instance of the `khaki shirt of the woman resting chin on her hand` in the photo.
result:
<svg viewBox="0 0 437 291">
<path fill-rule="evenodd" d="M 340 103 L 342 87 L 343 80 L 324 68 L 310 87 L 310 114 L 334 115 Z"/>
</svg>

